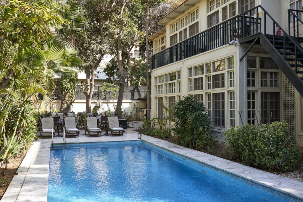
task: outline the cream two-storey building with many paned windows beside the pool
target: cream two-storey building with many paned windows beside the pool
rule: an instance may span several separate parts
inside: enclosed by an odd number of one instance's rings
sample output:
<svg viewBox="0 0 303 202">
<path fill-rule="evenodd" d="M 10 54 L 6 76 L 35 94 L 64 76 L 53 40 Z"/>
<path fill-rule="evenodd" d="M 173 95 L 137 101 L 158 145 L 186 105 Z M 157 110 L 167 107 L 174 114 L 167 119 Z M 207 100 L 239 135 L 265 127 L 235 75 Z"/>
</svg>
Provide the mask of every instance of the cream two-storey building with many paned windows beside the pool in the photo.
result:
<svg viewBox="0 0 303 202">
<path fill-rule="evenodd" d="M 170 107 L 195 95 L 218 133 L 229 125 L 285 120 L 299 143 L 301 18 L 302 0 L 185 1 L 149 36 L 152 118 L 163 116 L 162 101 Z"/>
</svg>

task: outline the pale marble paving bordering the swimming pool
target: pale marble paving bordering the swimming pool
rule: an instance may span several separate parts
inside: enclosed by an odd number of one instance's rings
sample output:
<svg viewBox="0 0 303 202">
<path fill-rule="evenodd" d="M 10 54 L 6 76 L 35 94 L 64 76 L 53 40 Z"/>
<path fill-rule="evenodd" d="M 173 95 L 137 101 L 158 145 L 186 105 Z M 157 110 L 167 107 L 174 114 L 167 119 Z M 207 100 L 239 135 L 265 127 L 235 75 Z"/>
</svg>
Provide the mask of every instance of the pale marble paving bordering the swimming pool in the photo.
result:
<svg viewBox="0 0 303 202">
<path fill-rule="evenodd" d="M 154 145 L 174 151 L 189 158 L 202 161 L 208 165 L 234 173 L 252 182 L 272 187 L 275 190 L 288 193 L 303 201 L 303 183 L 276 174 L 261 171 L 223 158 L 209 155 L 171 142 L 142 135 L 142 139 Z M 123 136 L 88 137 L 81 130 L 79 137 L 66 138 L 66 143 L 77 142 L 108 142 L 138 140 L 137 132 L 126 129 Z M 12 179 L 1 202 L 47 201 L 48 168 L 51 148 L 51 138 L 41 138 L 35 141 L 29 149 L 20 167 L 18 175 Z M 63 143 L 62 137 L 54 138 L 54 143 Z"/>
</svg>

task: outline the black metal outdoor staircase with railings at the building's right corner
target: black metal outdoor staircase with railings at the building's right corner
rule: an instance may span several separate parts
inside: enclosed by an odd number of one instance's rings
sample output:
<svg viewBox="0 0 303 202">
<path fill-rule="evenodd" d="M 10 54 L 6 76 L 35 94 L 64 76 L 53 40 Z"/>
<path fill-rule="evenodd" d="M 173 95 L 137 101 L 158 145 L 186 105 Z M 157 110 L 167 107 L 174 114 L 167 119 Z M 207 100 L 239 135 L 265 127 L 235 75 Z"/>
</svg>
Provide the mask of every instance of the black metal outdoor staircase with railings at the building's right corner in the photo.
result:
<svg viewBox="0 0 303 202">
<path fill-rule="evenodd" d="M 263 15 L 263 27 L 260 32 L 255 34 L 250 34 L 248 32 L 244 38 L 238 40 L 239 44 L 251 44 L 246 53 L 241 57 L 240 61 L 253 45 L 261 44 L 303 97 L 303 47 L 300 44 L 303 43 L 303 38 L 299 37 L 298 32 L 295 31 L 298 30 L 298 23 L 300 22 L 303 24 L 303 22 L 298 17 L 298 14 L 293 11 L 294 10 L 289 10 L 289 19 L 293 18 L 293 21 L 296 20 L 294 23 L 294 34 L 292 36 L 290 35 L 290 23 L 288 23 L 289 30 L 286 32 L 262 6 L 258 6 L 244 14 L 241 14 L 245 16 L 251 15 L 251 13 L 259 14 L 261 12 Z M 248 24 L 249 30 L 254 29 L 253 26 L 250 26 L 249 22 L 244 23 Z M 268 29 L 266 24 L 272 24 L 272 28 L 270 27 Z M 275 35 L 276 27 L 281 30 L 281 36 Z"/>
</svg>

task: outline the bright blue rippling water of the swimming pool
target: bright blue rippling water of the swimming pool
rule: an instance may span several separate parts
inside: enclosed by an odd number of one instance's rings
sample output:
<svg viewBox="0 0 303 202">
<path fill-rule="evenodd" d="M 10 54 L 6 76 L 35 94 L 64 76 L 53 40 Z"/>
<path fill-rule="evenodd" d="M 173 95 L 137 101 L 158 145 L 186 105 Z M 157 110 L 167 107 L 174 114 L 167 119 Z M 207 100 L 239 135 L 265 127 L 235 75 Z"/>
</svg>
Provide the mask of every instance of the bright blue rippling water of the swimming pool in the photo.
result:
<svg viewBox="0 0 303 202">
<path fill-rule="evenodd" d="M 52 201 L 288 201 L 142 141 L 51 150 Z"/>
</svg>

